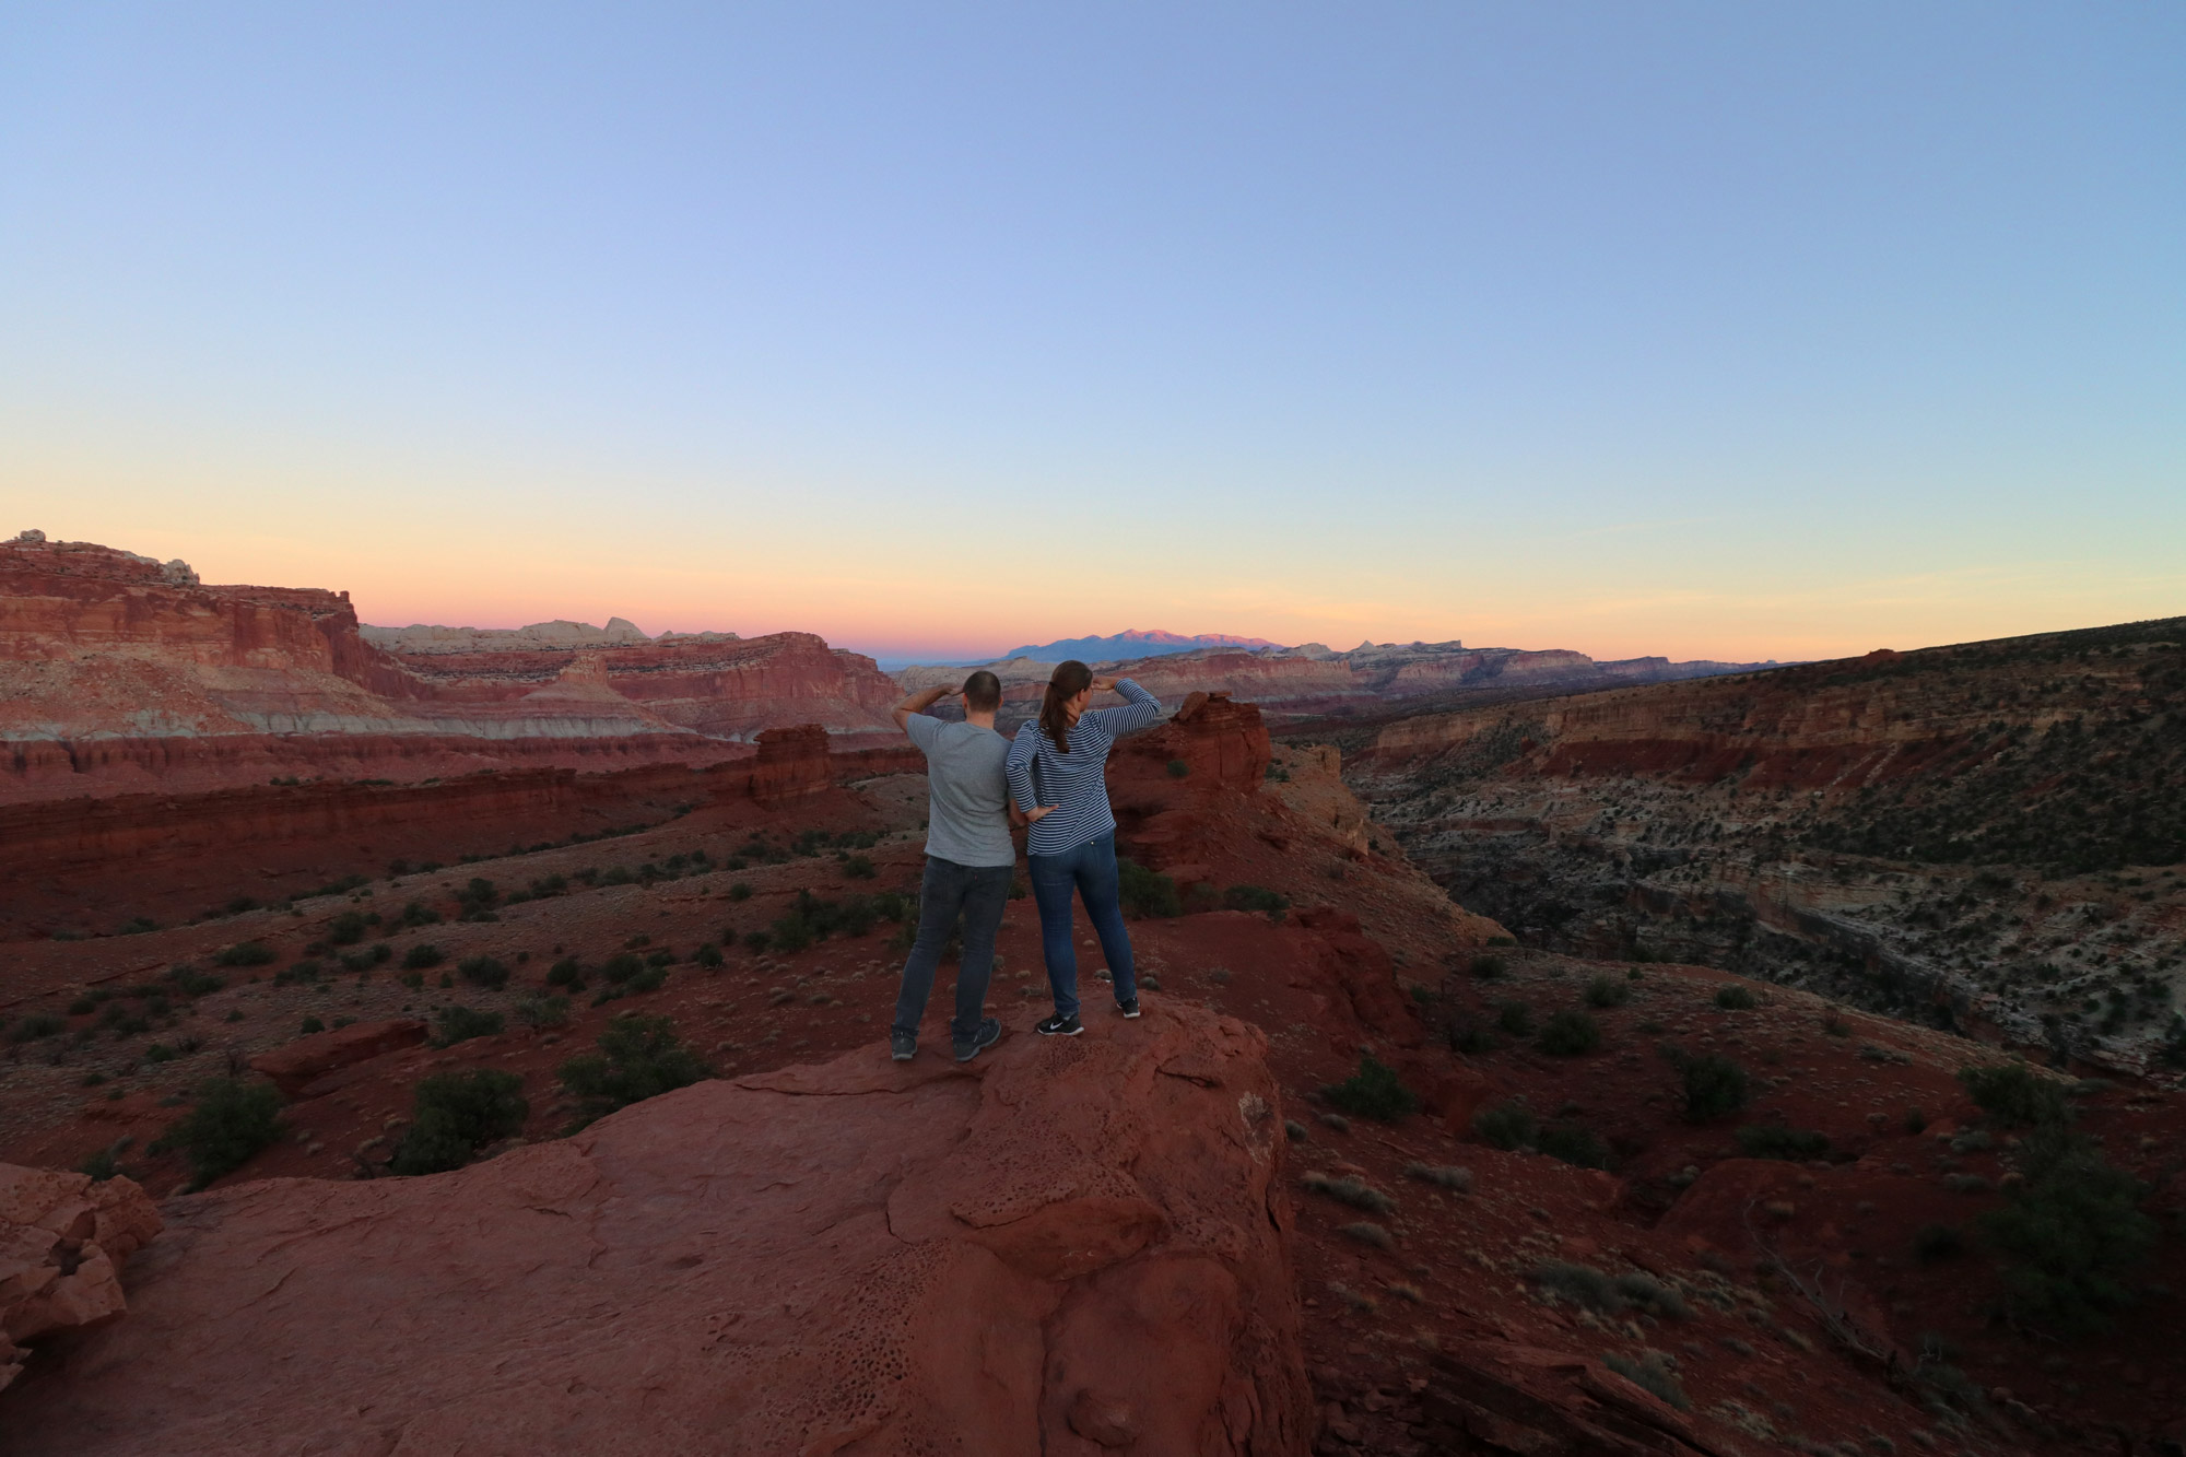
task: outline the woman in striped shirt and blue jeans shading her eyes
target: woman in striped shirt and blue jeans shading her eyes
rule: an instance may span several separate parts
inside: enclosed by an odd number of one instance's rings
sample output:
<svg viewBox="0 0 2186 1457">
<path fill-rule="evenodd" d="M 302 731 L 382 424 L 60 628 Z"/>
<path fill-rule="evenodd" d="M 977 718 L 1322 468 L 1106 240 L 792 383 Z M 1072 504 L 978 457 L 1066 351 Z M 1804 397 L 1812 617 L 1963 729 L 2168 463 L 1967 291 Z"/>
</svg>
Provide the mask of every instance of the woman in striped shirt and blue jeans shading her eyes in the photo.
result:
<svg viewBox="0 0 2186 1457">
<path fill-rule="evenodd" d="M 1095 691 L 1115 689 L 1121 709 L 1095 709 Z M 1056 1015 L 1041 1022 L 1047 1037 L 1076 1037 L 1078 949 L 1071 925 L 1071 890 L 1086 904 L 1086 919 L 1108 956 L 1117 1011 L 1139 1015 L 1139 980 L 1130 967 L 1130 932 L 1115 871 L 1115 812 L 1108 809 L 1108 750 L 1126 733 L 1152 728 L 1161 700 L 1130 678 L 1095 678 L 1071 658 L 1047 680 L 1041 718 L 1016 731 L 1003 772 L 1010 799 L 1032 823 L 1025 860 L 1032 866 L 1032 899 L 1041 906 L 1041 949 L 1047 952 L 1047 984 L 1056 993 Z"/>
</svg>

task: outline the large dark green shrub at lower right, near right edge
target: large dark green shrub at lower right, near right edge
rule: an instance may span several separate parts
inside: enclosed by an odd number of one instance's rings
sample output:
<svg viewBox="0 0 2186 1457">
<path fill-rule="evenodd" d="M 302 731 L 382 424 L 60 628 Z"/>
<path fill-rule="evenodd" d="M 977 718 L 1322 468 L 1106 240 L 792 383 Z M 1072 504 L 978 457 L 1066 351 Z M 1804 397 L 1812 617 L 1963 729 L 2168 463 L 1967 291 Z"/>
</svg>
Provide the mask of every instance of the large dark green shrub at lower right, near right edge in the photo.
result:
<svg viewBox="0 0 2186 1457">
<path fill-rule="evenodd" d="M 2155 1221 L 2140 1212 L 2149 1188 L 2064 1122 L 2029 1133 L 2018 1164 L 2026 1181 L 1981 1216 L 2005 1256 L 2011 1313 L 2064 1334 L 2105 1330 L 2131 1304 L 2134 1269 L 2155 1243 Z"/>
</svg>

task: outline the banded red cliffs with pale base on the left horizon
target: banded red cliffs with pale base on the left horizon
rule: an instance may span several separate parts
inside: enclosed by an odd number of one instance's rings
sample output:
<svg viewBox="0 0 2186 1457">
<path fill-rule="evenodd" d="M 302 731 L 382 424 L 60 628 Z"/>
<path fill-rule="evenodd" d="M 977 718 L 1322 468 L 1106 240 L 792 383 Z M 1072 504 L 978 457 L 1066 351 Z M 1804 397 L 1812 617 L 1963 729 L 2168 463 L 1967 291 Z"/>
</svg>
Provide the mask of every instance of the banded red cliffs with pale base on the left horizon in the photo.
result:
<svg viewBox="0 0 2186 1457">
<path fill-rule="evenodd" d="M 765 728 L 892 733 L 898 689 L 809 632 L 367 630 L 345 593 L 205 586 L 0 543 L 0 803 L 492 766 L 715 764 Z"/>
</svg>

